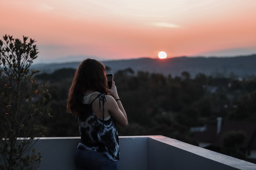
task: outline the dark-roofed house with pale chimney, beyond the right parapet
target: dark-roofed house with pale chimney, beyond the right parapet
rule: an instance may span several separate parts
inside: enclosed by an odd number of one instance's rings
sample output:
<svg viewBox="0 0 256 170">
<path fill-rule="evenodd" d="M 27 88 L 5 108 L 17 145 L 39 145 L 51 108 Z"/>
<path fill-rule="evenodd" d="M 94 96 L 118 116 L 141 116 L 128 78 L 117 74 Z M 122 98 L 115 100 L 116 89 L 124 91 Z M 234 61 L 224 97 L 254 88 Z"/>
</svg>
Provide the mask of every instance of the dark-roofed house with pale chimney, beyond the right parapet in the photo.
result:
<svg viewBox="0 0 256 170">
<path fill-rule="evenodd" d="M 198 146 L 222 153 L 223 137 L 228 132 L 242 132 L 245 138 L 241 144 L 237 145 L 237 148 L 245 155 L 244 160 L 256 163 L 256 122 L 226 121 L 221 124 L 221 121 L 222 119 L 218 118 L 217 125 L 207 125 L 201 129 L 197 128 L 198 130 L 191 128 L 190 131 L 194 134 Z"/>
</svg>

